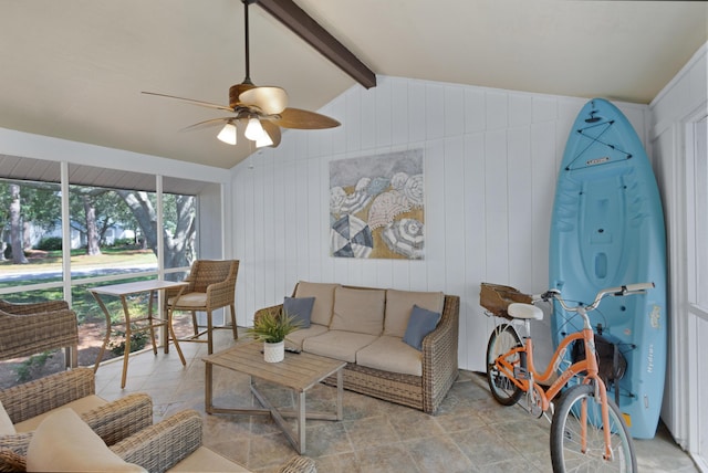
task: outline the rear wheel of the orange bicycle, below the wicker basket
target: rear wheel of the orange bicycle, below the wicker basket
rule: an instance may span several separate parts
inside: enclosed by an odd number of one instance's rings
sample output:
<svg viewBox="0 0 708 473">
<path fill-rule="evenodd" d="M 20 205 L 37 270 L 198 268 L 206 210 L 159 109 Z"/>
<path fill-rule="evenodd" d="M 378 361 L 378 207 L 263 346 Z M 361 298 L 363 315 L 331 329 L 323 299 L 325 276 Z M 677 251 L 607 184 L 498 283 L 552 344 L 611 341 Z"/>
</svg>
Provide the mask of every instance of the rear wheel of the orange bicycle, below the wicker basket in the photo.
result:
<svg viewBox="0 0 708 473">
<path fill-rule="evenodd" d="M 491 395 L 503 406 L 517 403 L 521 395 L 523 395 L 523 391 L 497 369 L 494 361 L 512 348 L 521 346 L 517 330 L 509 324 L 502 324 L 496 327 L 489 336 L 489 343 L 487 344 L 487 381 L 489 381 Z M 513 365 L 525 368 L 525 354 L 508 357 L 507 360 Z"/>
</svg>

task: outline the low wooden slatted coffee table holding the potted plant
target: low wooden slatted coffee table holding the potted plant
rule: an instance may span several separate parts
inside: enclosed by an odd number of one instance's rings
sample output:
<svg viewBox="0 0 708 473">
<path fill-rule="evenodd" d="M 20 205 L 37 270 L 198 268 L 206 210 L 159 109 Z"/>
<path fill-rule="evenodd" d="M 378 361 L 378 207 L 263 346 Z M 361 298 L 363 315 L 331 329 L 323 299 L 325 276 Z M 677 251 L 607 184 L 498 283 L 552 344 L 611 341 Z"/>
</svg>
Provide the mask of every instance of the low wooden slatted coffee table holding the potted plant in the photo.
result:
<svg viewBox="0 0 708 473">
<path fill-rule="evenodd" d="M 346 362 L 308 353 L 293 354 L 285 351 L 285 359 L 280 362 L 266 362 L 263 360 L 262 343 L 251 341 L 237 345 L 233 348 L 210 355 L 204 358 L 207 367 L 205 382 L 205 409 L 207 413 L 236 413 L 236 414 L 266 414 L 271 416 L 283 431 L 298 453 L 305 452 L 305 419 L 342 420 L 342 368 Z M 249 375 L 251 391 L 261 403 L 262 408 L 219 408 L 214 406 L 214 367 L 231 369 Z M 336 407 L 335 413 L 306 412 L 305 393 L 313 386 L 336 372 Z M 285 410 L 273 407 L 253 383 L 253 377 L 270 381 L 285 388 L 290 388 L 295 396 L 295 409 Z M 296 428 L 294 431 L 285 423 L 284 417 L 294 417 Z"/>
</svg>

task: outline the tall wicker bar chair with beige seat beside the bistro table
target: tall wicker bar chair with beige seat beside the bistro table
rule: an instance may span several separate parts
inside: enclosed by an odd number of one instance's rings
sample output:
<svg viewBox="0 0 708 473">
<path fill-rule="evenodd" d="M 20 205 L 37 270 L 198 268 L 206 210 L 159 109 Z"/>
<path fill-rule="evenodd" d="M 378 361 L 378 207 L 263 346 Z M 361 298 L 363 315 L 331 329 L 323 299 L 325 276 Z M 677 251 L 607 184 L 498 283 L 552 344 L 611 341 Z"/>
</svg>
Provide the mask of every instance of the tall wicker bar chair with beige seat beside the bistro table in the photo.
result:
<svg viewBox="0 0 708 473">
<path fill-rule="evenodd" d="M 233 330 L 233 339 L 238 338 L 235 306 L 238 272 L 238 260 L 197 260 L 191 265 L 189 275 L 185 278 L 189 286 L 185 288 L 183 295 L 175 299 L 177 291 L 168 291 L 167 304 L 173 312 L 188 311 L 191 313 L 194 335 L 188 338 L 180 338 L 179 341 L 207 343 L 209 345 L 209 355 L 211 355 L 214 353 L 214 329 L 230 328 Z M 211 317 L 212 311 L 227 306 L 231 311 L 231 326 L 227 325 L 226 315 L 223 316 L 223 325 L 215 326 Z M 197 323 L 197 312 L 207 313 L 207 326 L 201 332 Z M 204 335 L 207 336 L 206 340 L 200 338 Z"/>
</svg>

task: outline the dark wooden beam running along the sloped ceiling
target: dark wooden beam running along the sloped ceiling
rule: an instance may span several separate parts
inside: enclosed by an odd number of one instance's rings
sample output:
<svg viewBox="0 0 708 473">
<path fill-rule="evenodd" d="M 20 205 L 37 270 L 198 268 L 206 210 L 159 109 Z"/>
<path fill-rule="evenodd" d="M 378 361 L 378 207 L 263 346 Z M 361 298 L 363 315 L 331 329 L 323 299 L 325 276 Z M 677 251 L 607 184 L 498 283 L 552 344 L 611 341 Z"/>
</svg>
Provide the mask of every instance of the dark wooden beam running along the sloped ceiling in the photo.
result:
<svg viewBox="0 0 708 473">
<path fill-rule="evenodd" d="M 364 87 L 376 86 L 376 74 L 292 0 L 254 1 Z"/>
</svg>

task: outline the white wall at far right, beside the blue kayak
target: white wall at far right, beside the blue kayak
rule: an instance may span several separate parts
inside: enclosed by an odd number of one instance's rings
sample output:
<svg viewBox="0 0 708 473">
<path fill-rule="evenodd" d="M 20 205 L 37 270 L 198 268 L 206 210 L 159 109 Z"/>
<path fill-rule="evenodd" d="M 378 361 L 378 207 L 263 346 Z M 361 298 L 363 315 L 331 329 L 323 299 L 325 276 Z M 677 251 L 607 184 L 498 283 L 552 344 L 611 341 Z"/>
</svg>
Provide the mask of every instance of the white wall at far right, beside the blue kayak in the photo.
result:
<svg viewBox="0 0 708 473">
<path fill-rule="evenodd" d="M 708 44 L 699 49 L 650 104 L 650 143 L 666 213 L 670 288 L 669 369 L 662 418 L 678 443 L 694 454 L 698 453 L 701 409 L 706 418 L 702 392 L 708 389 L 706 358 L 699 356 L 705 340 L 697 338 L 697 334 L 708 332 L 708 317 L 705 314 L 701 317 L 696 299 L 690 297 L 696 273 L 687 264 L 690 216 L 687 216 L 686 189 L 693 176 L 687 171 L 690 143 L 686 138 L 691 124 L 708 114 L 707 51 Z M 705 423 L 702 435 L 708 439 Z M 702 455 L 708 456 L 708 452 Z M 704 465 L 708 467 L 708 463 Z"/>
</svg>

